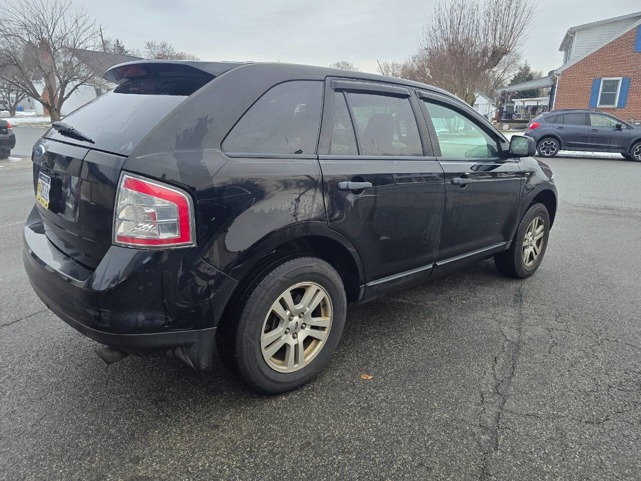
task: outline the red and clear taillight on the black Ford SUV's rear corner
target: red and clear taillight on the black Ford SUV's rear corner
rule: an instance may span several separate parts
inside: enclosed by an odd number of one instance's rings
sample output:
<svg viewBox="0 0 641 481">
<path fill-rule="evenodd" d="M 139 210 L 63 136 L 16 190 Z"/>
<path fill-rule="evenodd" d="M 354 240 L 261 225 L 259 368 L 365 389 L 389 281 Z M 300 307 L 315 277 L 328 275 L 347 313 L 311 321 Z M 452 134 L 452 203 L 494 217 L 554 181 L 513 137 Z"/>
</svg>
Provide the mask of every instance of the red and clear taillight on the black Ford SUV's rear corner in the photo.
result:
<svg viewBox="0 0 641 481">
<path fill-rule="evenodd" d="M 113 243 L 144 248 L 194 245 L 194 206 L 185 192 L 123 174 L 113 215 Z"/>
</svg>

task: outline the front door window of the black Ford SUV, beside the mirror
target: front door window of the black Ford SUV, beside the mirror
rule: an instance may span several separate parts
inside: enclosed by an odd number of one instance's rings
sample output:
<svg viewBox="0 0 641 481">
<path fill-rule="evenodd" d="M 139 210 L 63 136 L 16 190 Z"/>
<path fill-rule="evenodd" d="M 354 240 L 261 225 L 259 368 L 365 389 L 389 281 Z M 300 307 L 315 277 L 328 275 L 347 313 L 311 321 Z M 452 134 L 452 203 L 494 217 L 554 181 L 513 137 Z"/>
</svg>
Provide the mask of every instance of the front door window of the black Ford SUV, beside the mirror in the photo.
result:
<svg viewBox="0 0 641 481">
<path fill-rule="evenodd" d="M 442 158 L 497 158 L 499 147 L 475 122 L 444 105 L 426 101 Z"/>
</svg>

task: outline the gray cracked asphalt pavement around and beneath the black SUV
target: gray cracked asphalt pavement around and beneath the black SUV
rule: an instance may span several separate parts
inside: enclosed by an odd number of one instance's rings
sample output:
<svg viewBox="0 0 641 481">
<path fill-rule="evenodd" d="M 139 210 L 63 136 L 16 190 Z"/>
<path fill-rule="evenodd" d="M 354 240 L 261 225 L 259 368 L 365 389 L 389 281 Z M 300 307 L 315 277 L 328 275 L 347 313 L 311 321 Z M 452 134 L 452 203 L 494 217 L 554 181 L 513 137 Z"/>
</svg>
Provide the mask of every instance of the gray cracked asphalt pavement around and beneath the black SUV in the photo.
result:
<svg viewBox="0 0 641 481">
<path fill-rule="evenodd" d="M 279 396 L 221 364 L 106 366 L 22 268 L 28 164 L 0 169 L 0 479 L 641 479 L 641 164 L 550 159 L 534 276 L 485 260 L 352 307 Z"/>
</svg>

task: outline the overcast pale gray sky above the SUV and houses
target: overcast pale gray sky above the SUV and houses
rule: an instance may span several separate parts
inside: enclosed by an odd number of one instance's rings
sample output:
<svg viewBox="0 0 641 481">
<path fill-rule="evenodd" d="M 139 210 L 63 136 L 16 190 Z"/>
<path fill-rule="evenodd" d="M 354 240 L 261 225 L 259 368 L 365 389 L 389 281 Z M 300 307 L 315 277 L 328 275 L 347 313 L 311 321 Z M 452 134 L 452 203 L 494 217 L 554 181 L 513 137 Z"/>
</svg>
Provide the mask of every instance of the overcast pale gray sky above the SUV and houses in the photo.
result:
<svg viewBox="0 0 641 481">
<path fill-rule="evenodd" d="M 76 0 L 77 1 L 77 0 Z M 169 40 L 203 60 L 254 60 L 328 65 L 349 60 L 376 71 L 376 60 L 403 60 L 416 47 L 434 0 L 110 0 L 85 2 L 105 35 L 129 47 Z M 535 30 L 523 51 L 545 73 L 571 26 L 641 10 L 640 0 L 540 0 Z"/>
</svg>

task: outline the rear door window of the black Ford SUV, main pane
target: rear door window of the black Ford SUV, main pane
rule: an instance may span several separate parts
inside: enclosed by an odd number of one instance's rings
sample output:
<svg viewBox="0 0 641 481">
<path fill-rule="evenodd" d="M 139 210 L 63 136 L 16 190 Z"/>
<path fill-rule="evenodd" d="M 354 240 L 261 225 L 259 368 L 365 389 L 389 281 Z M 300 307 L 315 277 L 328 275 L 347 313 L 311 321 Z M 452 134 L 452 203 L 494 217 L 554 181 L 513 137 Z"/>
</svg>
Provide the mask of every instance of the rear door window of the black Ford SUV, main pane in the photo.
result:
<svg viewBox="0 0 641 481">
<path fill-rule="evenodd" d="M 361 155 L 423 155 L 410 99 L 355 92 L 347 96 Z"/>
</svg>

